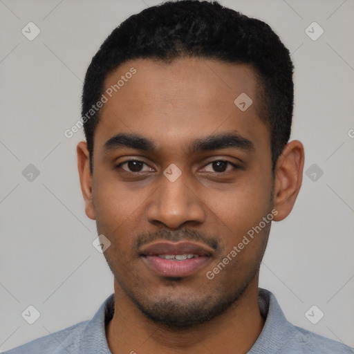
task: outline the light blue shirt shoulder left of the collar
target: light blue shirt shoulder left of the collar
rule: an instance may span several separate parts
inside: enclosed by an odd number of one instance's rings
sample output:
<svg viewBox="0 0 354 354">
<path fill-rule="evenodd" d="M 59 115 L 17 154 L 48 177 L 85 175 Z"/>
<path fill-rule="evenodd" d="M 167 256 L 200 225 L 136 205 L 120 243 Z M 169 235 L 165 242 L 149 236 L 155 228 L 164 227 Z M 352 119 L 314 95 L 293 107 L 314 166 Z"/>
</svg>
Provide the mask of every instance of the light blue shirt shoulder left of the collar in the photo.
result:
<svg viewBox="0 0 354 354">
<path fill-rule="evenodd" d="M 74 324 L 55 333 L 32 340 L 3 354 L 62 354 L 75 353 L 75 347 L 88 321 Z"/>
</svg>

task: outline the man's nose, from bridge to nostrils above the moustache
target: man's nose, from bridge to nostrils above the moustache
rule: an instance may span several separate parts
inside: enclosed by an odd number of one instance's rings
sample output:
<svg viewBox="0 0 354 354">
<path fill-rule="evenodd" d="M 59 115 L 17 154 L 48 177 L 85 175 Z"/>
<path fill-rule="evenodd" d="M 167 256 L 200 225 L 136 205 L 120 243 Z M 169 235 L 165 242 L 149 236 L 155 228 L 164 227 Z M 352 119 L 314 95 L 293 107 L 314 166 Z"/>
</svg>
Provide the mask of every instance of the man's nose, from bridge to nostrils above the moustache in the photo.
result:
<svg viewBox="0 0 354 354">
<path fill-rule="evenodd" d="M 186 223 L 199 225 L 205 221 L 205 207 L 192 183 L 183 174 L 174 182 L 161 176 L 160 187 L 152 196 L 147 218 L 154 225 L 178 229 Z"/>
</svg>

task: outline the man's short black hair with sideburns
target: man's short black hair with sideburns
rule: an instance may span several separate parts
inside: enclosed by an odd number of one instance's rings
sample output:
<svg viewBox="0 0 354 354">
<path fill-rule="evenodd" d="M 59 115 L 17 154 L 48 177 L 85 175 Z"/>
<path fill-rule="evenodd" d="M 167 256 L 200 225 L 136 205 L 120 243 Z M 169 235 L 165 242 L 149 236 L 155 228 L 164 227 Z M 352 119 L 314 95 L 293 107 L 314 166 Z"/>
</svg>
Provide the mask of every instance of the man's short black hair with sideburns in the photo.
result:
<svg viewBox="0 0 354 354">
<path fill-rule="evenodd" d="M 88 66 L 82 92 L 82 119 L 93 171 L 93 136 L 106 77 L 131 59 L 170 62 L 201 57 L 249 64 L 261 83 L 261 120 L 270 129 L 272 171 L 290 138 L 294 66 L 289 50 L 272 28 L 259 19 L 221 6 L 217 1 L 166 1 L 132 15 L 106 38 Z M 236 98 L 236 97 L 235 97 Z"/>
</svg>

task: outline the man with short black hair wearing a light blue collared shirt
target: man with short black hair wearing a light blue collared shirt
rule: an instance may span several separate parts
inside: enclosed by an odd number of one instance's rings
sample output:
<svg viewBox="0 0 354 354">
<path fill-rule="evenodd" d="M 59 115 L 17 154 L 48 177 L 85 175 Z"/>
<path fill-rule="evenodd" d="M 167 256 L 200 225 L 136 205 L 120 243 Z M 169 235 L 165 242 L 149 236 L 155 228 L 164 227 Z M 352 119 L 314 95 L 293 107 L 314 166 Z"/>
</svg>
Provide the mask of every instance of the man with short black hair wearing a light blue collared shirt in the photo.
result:
<svg viewBox="0 0 354 354">
<path fill-rule="evenodd" d="M 270 27 L 206 1 L 129 17 L 88 67 L 86 215 L 114 275 L 88 322 L 15 353 L 353 353 L 258 288 L 304 167 L 292 62 Z"/>
</svg>

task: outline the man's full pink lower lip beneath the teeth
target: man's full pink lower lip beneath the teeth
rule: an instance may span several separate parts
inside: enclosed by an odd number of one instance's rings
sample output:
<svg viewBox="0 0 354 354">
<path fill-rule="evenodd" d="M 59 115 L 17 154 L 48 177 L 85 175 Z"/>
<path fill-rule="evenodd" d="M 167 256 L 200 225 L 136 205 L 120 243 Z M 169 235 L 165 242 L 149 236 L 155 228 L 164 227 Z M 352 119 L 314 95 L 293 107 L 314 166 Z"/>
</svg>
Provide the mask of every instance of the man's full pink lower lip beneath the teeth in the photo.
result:
<svg viewBox="0 0 354 354">
<path fill-rule="evenodd" d="M 143 257 L 147 266 L 161 277 L 187 277 L 201 269 L 210 259 L 207 256 L 200 256 L 184 261 L 172 261 L 158 256 Z"/>
</svg>

